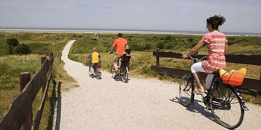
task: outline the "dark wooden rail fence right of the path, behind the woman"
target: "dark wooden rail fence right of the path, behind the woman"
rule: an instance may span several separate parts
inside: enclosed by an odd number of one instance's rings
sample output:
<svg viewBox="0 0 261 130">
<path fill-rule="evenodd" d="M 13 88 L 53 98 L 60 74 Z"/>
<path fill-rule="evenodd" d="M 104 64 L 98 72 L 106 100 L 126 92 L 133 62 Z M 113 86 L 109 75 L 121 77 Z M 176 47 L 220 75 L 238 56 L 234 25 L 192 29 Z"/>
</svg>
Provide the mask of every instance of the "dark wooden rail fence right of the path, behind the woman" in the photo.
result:
<svg viewBox="0 0 261 130">
<path fill-rule="evenodd" d="M 160 67 L 159 66 L 159 57 L 169 57 L 169 58 L 182 58 L 181 53 L 175 52 L 163 52 L 153 51 L 153 56 L 156 56 L 156 66 L 152 66 L 152 70 L 157 72 L 161 75 L 168 75 L 168 76 L 179 76 L 182 77 L 185 74 L 191 73 L 189 70 L 183 69 L 175 69 L 175 68 L 167 68 L 167 67 Z M 194 58 L 202 58 L 203 56 L 207 55 L 193 55 Z M 226 61 L 231 63 L 242 63 L 242 64 L 253 64 L 256 66 L 261 66 L 261 55 L 235 55 L 235 54 L 228 54 L 226 56 Z M 187 58 L 190 59 L 190 58 Z M 206 79 L 205 73 L 199 73 L 202 79 Z M 253 79 L 253 78 L 245 78 L 242 84 L 243 88 L 257 90 L 260 92 L 261 90 L 261 69 L 260 69 L 260 79 Z"/>
</svg>

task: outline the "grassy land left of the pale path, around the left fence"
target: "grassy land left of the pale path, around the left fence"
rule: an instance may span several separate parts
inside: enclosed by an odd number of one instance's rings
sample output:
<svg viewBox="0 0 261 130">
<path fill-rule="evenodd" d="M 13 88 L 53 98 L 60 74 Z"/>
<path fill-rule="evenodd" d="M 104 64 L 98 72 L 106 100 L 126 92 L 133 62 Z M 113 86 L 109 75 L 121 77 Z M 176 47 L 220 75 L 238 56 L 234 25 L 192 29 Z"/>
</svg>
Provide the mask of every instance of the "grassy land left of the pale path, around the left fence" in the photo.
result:
<svg viewBox="0 0 261 130">
<path fill-rule="evenodd" d="M 17 38 L 19 43 L 28 44 L 33 50 L 30 55 L 8 55 L 7 38 Z M 31 77 L 40 68 L 40 56 L 55 52 L 55 55 L 69 39 L 76 36 L 71 33 L 24 33 L 24 32 L 0 32 L 0 115 L 10 106 L 15 94 L 19 93 L 19 74 L 30 72 Z M 56 81 L 62 81 L 62 89 L 76 86 L 75 81 L 63 70 L 63 62 L 54 62 L 54 77 Z M 45 110 L 40 122 L 40 129 L 52 128 L 53 110 L 56 95 L 52 95 L 53 86 L 50 84 L 49 96 L 46 100 Z M 56 90 L 57 91 L 57 90 Z M 41 90 L 33 103 L 33 118 L 41 103 Z M 49 124 L 49 125 L 48 125 Z"/>
</svg>

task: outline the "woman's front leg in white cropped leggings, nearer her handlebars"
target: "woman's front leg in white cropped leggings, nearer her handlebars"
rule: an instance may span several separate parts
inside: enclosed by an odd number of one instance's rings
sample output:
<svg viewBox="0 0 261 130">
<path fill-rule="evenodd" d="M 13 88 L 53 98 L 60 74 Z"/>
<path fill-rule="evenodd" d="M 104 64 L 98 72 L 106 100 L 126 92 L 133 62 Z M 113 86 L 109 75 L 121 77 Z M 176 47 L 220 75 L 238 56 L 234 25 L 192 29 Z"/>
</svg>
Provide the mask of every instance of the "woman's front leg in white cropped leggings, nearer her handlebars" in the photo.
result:
<svg viewBox="0 0 261 130">
<path fill-rule="evenodd" d="M 200 84 L 200 81 L 199 81 L 199 78 L 198 78 L 198 75 L 197 75 L 198 72 L 205 72 L 204 69 L 202 68 L 202 62 L 197 62 L 197 63 L 192 64 L 192 66 L 191 66 L 191 73 L 192 73 L 192 75 L 193 75 L 193 77 L 194 77 L 194 79 L 196 81 L 196 85 L 199 88 L 199 91 L 203 92 L 204 88 Z"/>
</svg>

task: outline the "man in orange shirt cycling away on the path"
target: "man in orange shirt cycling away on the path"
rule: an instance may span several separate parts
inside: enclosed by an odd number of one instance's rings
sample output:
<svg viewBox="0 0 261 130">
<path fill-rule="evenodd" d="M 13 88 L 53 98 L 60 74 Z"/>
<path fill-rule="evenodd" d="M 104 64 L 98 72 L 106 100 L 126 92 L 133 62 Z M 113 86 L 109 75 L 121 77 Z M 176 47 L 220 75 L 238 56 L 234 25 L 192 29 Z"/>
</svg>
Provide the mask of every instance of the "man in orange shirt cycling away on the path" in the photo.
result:
<svg viewBox="0 0 261 130">
<path fill-rule="evenodd" d="M 123 51 L 125 49 L 124 47 L 127 44 L 128 44 L 127 40 L 122 38 L 121 33 L 118 33 L 117 39 L 113 42 L 113 45 L 109 52 L 109 53 L 112 53 L 113 49 L 116 48 L 116 55 L 113 58 L 113 65 L 114 65 L 116 72 L 118 72 L 118 69 L 120 67 L 121 56 L 123 55 Z M 119 66 L 117 65 L 118 63 L 119 63 Z"/>
</svg>

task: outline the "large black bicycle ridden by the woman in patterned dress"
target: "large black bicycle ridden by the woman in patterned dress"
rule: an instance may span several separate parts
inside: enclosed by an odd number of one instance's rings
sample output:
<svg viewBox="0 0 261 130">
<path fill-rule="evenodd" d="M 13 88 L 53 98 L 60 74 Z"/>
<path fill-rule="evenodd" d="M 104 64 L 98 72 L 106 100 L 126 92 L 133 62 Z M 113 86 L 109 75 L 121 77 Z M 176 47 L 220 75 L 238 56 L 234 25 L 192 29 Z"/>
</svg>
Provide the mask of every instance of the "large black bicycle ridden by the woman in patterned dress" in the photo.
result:
<svg viewBox="0 0 261 130">
<path fill-rule="evenodd" d="M 192 58 L 194 63 L 197 58 Z M 205 57 L 203 57 L 205 58 Z M 202 60 L 201 58 L 200 60 Z M 220 79 L 219 72 L 214 72 L 214 78 L 206 96 L 202 96 L 202 101 L 206 105 L 206 110 L 211 110 L 215 120 L 226 128 L 237 128 L 243 121 L 244 111 L 248 111 L 245 101 L 240 96 L 239 92 L 234 89 L 234 86 L 223 84 Z M 186 74 L 180 81 L 180 100 L 185 107 L 194 104 L 194 96 L 192 93 L 195 90 L 194 77 Z"/>
</svg>

